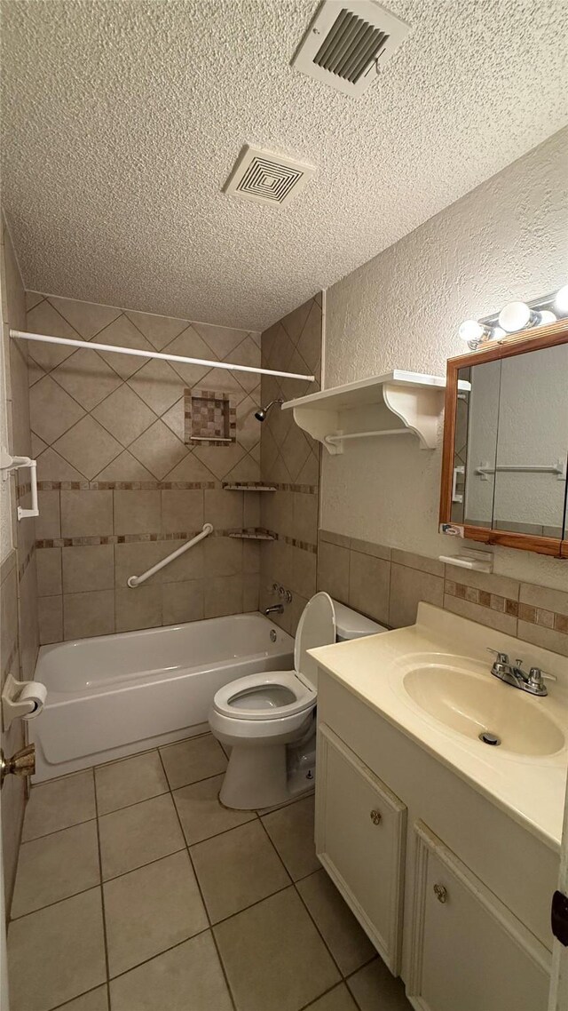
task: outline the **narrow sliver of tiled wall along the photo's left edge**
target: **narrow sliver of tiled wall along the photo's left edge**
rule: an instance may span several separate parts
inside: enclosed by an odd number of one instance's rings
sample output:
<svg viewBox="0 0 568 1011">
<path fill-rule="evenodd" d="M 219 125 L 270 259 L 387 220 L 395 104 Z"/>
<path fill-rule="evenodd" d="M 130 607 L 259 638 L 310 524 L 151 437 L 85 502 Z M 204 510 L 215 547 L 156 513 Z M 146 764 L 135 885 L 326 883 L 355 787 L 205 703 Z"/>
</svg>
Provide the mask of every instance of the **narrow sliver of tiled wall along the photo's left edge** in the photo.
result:
<svg viewBox="0 0 568 1011">
<path fill-rule="evenodd" d="M 2 221 L 2 369 L 6 395 L 7 443 L 3 447 L 12 456 L 29 456 L 29 400 L 27 390 L 27 349 L 10 341 L 8 332 L 25 329 L 23 285 L 12 249 L 10 236 Z M 4 390 L 0 390 L 0 396 Z M 10 524 L 2 522 L 2 564 L 0 566 L 0 688 L 8 673 L 16 679 L 33 676 L 37 654 L 37 598 L 35 577 L 34 520 L 18 522 L 16 505 L 30 505 L 29 471 L 21 470 L 10 478 Z M 3 497 L 3 508 L 6 501 Z M 0 735 L 0 744 L 9 757 L 24 744 L 23 725 L 14 720 Z M 6 908 L 10 908 L 17 851 L 25 803 L 23 779 L 9 775 L 2 788 L 2 850 Z"/>
</svg>

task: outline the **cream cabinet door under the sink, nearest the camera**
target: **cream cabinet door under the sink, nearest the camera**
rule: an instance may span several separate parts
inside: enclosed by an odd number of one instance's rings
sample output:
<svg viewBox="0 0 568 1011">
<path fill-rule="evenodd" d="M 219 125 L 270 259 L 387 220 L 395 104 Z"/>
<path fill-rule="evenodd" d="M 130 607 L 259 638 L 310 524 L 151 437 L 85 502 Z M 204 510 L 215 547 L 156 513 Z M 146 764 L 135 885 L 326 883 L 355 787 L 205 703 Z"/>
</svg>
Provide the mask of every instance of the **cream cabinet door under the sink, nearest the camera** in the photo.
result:
<svg viewBox="0 0 568 1011">
<path fill-rule="evenodd" d="M 421 822 L 414 836 L 413 1007 L 546 1011 L 550 953 Z"/>
</svg>

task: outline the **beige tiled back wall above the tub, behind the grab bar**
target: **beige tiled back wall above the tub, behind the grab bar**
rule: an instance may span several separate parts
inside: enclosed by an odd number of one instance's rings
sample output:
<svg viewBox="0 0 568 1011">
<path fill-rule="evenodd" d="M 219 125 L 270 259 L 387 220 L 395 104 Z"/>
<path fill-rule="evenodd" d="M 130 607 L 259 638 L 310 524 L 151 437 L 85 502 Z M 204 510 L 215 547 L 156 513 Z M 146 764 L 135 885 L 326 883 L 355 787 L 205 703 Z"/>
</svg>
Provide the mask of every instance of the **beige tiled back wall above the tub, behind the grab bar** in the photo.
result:
<svg viewBox="0 0 568 1011">
<path fill-rule="evenodd" d="M 28 292 L 28 331 L 243 365 L 259 336 Z M 217 617 L 258 607 L 259 545 L 228 536 L 260 523 L 259 376 L 30 344 L 37 457 L 42 643 Z M 184 389 L 227 394 L 235 442 L 184 442 Z M 214 534 L 135 589 L 139 574 L 197 533 Z"/>
</svg>

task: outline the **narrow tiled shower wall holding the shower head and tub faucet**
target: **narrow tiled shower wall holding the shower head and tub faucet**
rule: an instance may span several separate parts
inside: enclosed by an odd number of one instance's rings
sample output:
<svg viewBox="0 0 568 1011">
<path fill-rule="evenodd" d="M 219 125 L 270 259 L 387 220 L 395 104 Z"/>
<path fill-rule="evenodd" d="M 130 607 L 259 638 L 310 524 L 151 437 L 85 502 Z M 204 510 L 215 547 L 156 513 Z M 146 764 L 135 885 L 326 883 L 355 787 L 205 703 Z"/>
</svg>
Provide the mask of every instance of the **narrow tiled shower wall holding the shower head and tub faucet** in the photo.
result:
<svg viewBox="0 0 568 1011">
<path fill-rule="evenodd" d="M 312 374 L 315 381 L 262 377 L 262 400 L 290 400 L 320 388 L 321 296 L 318 294 L 274 324 L 262 335 L 264 368 Z M 292 412 L 275 405 L 262 426 L 261 473 L 276 487 L 261 494 L 261 526 L 275 540 L 261 550 L 261 607 L 278 604 L 276 582 L 290 589 L 293 600 L 272 620 L 295 633 L 301 612 L 315 592 L 319 443 L 295 425 Z"/>
</svg>

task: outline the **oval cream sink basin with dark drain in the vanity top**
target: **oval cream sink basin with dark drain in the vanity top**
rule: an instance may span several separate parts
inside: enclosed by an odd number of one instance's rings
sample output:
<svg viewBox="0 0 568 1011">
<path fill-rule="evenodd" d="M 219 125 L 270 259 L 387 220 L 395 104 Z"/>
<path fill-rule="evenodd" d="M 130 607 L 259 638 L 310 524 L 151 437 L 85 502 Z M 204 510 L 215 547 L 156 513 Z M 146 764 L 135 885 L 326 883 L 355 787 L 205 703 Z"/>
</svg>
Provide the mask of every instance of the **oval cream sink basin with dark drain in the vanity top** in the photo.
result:
<svg viewBox="0 0 568 1011">
<path fill-rule="evenodd" d="M 546 699 L 534 699 L 495 677 L 424 665 L 409 670 L 403 686 L 420 709 L 465 737 L 489 733 L 503 750 L 523 755 L 555 754 L 566 743 L 544 711 Z"/>
</svg>

